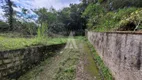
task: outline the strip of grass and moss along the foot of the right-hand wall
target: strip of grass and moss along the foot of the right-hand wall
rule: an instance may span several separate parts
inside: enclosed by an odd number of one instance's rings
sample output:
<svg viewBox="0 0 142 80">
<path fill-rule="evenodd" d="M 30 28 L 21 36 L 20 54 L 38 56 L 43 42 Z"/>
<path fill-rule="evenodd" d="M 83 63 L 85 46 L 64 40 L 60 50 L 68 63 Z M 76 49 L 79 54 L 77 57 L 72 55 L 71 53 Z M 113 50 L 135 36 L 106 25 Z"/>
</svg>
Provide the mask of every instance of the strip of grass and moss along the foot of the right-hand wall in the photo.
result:
<svg viewBox="0 0 142 80">
<path fill-rule="evenodd" d="M 86 57 L 89 60 L 89 62 L 91 63 L 90 65 L 88 64 L 86 66 L 86 68 L 89 70 L 89 72 L 92 73 L 93 75 L 96 75 L 97 71 L 96 71 L 95 67 L 98 67 L 98 69 L 99 69 L 98 71 L 101 72 L 101 78 L 99 76 L 97 76 L 97 80 L 101 80 L 101 79 L 113 80 L 113 76 L 111 75 L 108 67 L 104 64 L 103 60 L 100 58 L 100 56 L 98 55 L 98 53 L 96 52 L 96 50 L 94 49 L 92 44 L 87 40 L 87 38 L 76 37 L 76 39 L 80 40 L 80 41 L 83 40 L 84 44 L 87 44 L 85 46 L 84 50 L 87 50 L 90 53 Z M 91 59 L 92 55 L 95 60 Z"/>
</svg>

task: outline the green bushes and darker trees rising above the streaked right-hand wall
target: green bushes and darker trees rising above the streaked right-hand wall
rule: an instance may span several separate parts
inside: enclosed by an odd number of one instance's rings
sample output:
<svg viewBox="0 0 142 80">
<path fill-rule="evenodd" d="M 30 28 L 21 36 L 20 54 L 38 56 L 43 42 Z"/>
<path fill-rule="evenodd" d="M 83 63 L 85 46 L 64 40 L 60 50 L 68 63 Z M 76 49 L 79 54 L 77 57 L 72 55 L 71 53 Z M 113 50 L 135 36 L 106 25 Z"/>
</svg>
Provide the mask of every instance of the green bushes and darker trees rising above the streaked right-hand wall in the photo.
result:
<svg viewBox="0 0 142 80">
<path fill-rule="evenodd" d="M 138 31 L 142 26 L 140 0 L 101 0 L 90 2 L 82 14 L 89 30 Z M 128 4 L 129 3 L 129 4 Z"/>
</svg>

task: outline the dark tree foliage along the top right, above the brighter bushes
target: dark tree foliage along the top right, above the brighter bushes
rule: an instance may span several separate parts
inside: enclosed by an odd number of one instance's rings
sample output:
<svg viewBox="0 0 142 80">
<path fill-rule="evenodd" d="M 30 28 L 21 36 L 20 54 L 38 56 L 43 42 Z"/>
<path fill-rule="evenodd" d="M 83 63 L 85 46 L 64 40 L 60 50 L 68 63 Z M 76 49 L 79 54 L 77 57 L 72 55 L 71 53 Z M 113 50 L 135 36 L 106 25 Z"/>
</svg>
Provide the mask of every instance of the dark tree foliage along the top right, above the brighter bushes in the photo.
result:
<svg viewBox="0 0 142 80">
<path fill-rule="evenodd" d="M 83 4 L 96 4 L 99 3 L 101 6 L 108 10 L 117 10 L 128 7 L 142 7 L 142 0 L 81 0 Z"/>
</svg>

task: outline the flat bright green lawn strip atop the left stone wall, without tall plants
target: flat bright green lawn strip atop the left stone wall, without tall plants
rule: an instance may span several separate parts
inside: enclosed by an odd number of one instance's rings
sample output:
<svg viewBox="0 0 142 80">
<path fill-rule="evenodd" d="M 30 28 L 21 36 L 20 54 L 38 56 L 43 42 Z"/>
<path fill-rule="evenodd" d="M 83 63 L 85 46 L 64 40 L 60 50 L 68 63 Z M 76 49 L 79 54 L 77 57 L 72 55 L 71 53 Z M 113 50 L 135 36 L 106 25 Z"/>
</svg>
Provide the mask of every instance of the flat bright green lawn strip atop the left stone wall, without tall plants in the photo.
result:
<svg viewBox="0 0 142 80">
<path fill-rule="evenodd" d="M 0 51 L 20 49 L 36 45 L 51 45 L 65 43 L 67 38 L 11 38 L 0 36 Z"/>
</svg>

